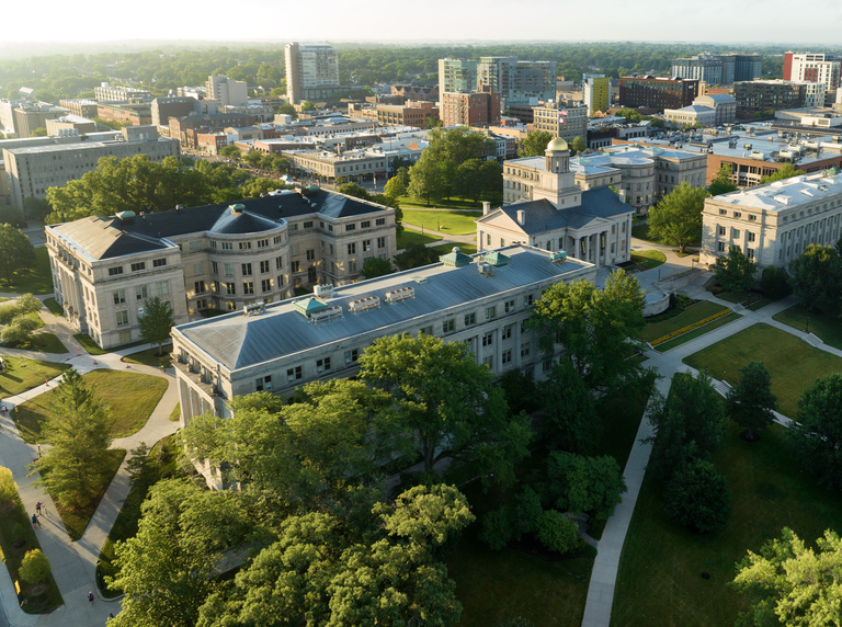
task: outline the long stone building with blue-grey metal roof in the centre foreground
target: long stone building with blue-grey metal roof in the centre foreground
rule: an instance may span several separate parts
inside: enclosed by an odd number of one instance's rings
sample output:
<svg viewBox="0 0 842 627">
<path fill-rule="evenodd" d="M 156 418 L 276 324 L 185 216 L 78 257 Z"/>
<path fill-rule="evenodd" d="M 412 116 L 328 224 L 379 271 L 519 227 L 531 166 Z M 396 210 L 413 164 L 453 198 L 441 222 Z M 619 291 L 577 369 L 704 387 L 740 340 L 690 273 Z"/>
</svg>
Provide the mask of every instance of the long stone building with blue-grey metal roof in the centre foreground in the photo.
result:
<svg viewBox="0 0 842 627">
<path fill-rule="evenodd" d="M 532 304 L 555 283 L 595 275 L 592 264 L 523 244 L 473 258 L 452 252 L 434 265 L 273 304 L 254 316 L 177 327 L 182 424 L 205 412 L 230 415 L 235 396 L 289 394 L 353 376 L 365 349 L 400 333 L 465 342 L 498 375 L 520 369 L 542 378 L 551 362 L 524 327 Z"/>
</svg>

